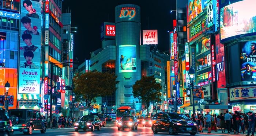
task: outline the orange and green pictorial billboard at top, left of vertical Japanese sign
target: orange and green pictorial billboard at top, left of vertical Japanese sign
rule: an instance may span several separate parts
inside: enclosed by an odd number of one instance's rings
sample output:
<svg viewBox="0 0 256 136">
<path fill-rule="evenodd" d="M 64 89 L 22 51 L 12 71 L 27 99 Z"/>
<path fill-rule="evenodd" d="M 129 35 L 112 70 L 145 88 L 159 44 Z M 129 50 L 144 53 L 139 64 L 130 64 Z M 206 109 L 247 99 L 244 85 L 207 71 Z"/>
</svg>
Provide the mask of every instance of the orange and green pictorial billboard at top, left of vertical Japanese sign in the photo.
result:
<svg viewBox="0 0 256 136">
<path fill-rule="evenodd" d="M 188 22 L 196 18 L 207 6 L 207 0 L 188 0 Z"/>
</svg>

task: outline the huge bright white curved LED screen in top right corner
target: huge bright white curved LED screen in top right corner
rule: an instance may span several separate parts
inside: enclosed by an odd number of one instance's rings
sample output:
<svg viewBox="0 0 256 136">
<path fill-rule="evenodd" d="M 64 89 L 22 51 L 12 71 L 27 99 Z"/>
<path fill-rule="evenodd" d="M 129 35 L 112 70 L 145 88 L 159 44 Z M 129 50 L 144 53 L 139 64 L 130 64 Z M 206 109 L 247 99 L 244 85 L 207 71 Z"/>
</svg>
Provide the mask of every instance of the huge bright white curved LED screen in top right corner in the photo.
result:
<svg viewBox="0 0 256 136">
<path fill-rule="evenodd" d="M 255 5 L 256 0 L 243 0 L 221 8 L 222 42 L 256 34 Z"/>
</svg>

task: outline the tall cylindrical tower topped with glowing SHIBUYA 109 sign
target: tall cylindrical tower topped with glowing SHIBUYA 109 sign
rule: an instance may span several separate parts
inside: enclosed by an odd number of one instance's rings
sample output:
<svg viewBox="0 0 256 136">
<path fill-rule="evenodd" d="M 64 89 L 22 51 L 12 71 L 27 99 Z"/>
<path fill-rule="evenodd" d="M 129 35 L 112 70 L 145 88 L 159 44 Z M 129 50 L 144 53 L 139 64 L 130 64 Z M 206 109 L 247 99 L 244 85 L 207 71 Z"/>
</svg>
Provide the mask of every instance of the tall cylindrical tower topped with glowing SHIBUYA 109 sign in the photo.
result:
<svg viewBox="0 0 256 136">
<path fill-rule="evenodd" d="M 133 106 L 132 85 L 141 78 L 140 62 L 140 7 L 133 4 L 115 8 L 116 23 L 116 107 Z M 135 103 L 137 109 L 140 103 Z"/>
</svg>

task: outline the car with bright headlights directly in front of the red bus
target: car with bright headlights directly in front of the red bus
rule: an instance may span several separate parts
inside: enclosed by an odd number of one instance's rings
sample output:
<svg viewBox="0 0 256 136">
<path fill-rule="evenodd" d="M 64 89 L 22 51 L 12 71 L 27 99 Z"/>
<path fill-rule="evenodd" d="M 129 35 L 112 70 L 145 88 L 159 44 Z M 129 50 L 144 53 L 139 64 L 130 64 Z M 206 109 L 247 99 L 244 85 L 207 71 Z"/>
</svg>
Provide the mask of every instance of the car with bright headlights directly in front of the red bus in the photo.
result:
<svg viewBox="0 0 256 136">
<path fill-rule="evenodd" d="M 134 116 L 123 116 L 117 124 L 117 129 L 124 130 L 125 128 L 131 128 L 132 130 L 138 129 L 138 122 Z"/>
</svg>

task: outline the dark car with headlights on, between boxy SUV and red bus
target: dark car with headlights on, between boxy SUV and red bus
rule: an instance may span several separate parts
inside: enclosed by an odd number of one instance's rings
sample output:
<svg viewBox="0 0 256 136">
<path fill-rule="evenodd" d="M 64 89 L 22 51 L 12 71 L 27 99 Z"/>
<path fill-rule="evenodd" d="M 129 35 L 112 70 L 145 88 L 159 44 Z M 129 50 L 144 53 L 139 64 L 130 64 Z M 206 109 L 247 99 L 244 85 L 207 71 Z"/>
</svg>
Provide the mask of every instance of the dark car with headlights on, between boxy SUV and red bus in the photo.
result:
<svg viewBox="0 0 256 136">
<path fill-rule="evenodd" d="M 86 115 L 82 116 L 79 121 L 74 123 L 74 128 L 76 132 L 78 132 L 79 129 L 83 129 L 83 131 L 86 131 L 87 129 L 94 131 L 95 128 L 100 131 L 101 124 L 102 122 L 99 120 L 98 116 Z"/>
</svg>

